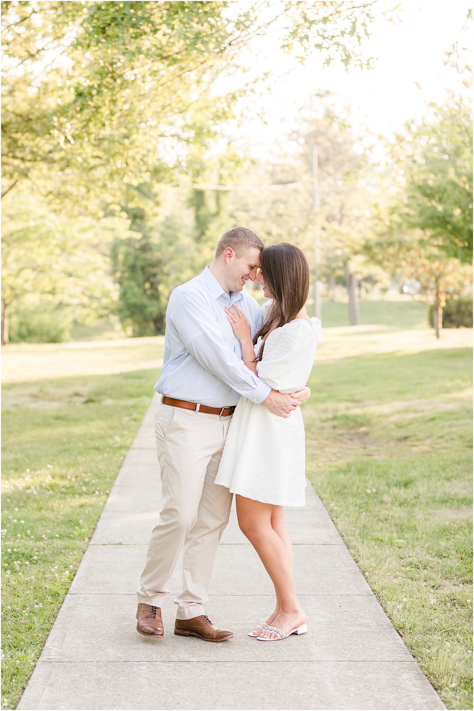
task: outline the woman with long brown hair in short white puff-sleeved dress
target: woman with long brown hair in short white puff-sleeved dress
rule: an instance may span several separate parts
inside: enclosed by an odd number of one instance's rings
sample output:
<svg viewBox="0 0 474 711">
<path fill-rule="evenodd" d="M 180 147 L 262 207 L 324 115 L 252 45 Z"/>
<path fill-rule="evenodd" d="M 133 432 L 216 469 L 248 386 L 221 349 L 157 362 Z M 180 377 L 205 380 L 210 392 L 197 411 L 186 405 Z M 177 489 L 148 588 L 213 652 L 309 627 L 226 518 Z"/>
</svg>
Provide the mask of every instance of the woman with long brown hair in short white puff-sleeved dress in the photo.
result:
<svg viewBox="0 0 474 711">
<path fill-rule="evenodd" d="M 257 279 L 271 299 L 265 321 L 252 341 L 250 324 L 238 306 L 226 308 L 250 370 L 274 390 L 296 392 L 306 385 L 321 321 L 308 318 L 304 304 L 309 268 L 301 250 L 286 243 L 266 247 Z M 306 616 L 293 581 L 293 548 L 283 506 L 304 506 L 306 487 L 304 424 L 297 407 L 277 417 L 265 405 L 241 397 L 228 429 L 216 484 L 236 494 L 238 524 L 260 556 L 277 602 L 270 617 L 250 636 L 275 641 L 307 631 Z"/>
</svg>

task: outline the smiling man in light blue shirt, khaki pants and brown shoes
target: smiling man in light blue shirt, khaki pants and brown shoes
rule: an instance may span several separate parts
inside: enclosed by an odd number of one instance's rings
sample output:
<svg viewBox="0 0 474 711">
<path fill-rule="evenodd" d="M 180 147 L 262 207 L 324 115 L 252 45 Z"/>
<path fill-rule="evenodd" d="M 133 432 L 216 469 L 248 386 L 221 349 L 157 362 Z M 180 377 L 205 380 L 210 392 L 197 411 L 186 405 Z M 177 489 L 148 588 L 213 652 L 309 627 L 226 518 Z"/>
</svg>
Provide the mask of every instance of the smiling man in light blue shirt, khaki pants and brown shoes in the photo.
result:
<svg viewBox="0 0 474 711">
<path fill-rule="evenodd" d="M 155 435 L 163 508 L 138 589 L 137 629 L 145 636 L 164 634 L 160 603 L 183 545 L 175 634 L 206 641 L 233 636 L 204 615 L 217 545 L 231 509 L 231 493 L 214 484 L 231 415 L 241 395 L 279 417 L 289 417 L 309 397 L 309 388 L 284 395 L 260 381 L 241 360 L 241 344 L 226 317 L 225 307 L 237 304 L 250 321 L 252 336 L 260 328 L 260 306 L 243 287 L 257 276 L 261 250 L 263 242 L 251 230 L 228 230 L 212 264 L 170 296 L 165 357 L 155 385 L 162 394 Z"/>
</svg>

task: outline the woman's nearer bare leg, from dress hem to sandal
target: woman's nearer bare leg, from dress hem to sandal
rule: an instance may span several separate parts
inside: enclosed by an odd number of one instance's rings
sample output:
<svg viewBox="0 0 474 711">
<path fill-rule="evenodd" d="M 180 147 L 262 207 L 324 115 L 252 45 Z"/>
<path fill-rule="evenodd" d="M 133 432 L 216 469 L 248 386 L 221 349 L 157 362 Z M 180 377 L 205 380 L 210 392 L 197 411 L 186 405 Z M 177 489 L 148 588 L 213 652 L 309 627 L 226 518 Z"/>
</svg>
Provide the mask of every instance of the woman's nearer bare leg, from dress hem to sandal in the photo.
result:
<svg viewBox="0 0 474 711">
<path fill-rule="evenodd" d="M 272 624 L 285 632 L 304 624 L 306 616 L 298 602 L 293 582 L 293 556 L 290 555 L 287 535 L 282 515 L 275 515 L 274 523 L 285 538 L 285 542 L 272 528 L 272 511 L 275 507 L 268 503 L 236 495 L 238 525 L 258 552 L 265 570 L 275 585 L 277 605 L 280 609 Z M 281 520 L 280 520 L 281 519 Z M 285 536 L 286 532 L 286 536 Z M 291 541 L 290 541 L 291 543 Z M 270 619 L 270 618 L 269 618 Z M 275 636 L 270 633 L 270 636 Z"/>
</svg>

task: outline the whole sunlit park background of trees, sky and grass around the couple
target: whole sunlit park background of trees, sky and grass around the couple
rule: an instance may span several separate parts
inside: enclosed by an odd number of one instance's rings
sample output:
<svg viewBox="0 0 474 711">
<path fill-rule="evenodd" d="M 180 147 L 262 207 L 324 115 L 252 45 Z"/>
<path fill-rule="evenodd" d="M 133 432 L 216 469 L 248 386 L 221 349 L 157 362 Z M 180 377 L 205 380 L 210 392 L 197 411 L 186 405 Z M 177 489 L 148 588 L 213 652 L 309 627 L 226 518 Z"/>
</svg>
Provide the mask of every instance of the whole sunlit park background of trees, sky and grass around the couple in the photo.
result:
<svg viewBox="0 0 474 711">
<path fill-rule="evenodd" d="M 1 8 L 2 708 L 150 405 L 170 292 L 234 225 L 307 255 L 307 476 L 472 707 L 470 4 Z"/>
</svg>

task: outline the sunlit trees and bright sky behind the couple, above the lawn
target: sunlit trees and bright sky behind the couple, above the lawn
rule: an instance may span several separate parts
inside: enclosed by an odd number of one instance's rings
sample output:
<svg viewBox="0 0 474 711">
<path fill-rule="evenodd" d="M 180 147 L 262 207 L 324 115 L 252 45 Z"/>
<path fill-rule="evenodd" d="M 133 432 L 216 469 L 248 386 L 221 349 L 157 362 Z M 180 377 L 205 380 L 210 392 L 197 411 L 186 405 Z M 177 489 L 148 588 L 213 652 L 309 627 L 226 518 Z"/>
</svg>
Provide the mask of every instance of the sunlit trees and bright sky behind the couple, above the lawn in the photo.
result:
<svg viewBox="0 0 474 711">
<path fill-rule="evenodd" d="M 153 52 L 164 4 L 54 5 L 4 16 L 2 342 L 164 333 L 170 291 L 236 224 L 304 249 L 325 326 L 390 325 L 368 300 L 424 325 L 465 311 L 464 0 L 195 5 Z"/>
</svg>

